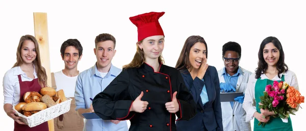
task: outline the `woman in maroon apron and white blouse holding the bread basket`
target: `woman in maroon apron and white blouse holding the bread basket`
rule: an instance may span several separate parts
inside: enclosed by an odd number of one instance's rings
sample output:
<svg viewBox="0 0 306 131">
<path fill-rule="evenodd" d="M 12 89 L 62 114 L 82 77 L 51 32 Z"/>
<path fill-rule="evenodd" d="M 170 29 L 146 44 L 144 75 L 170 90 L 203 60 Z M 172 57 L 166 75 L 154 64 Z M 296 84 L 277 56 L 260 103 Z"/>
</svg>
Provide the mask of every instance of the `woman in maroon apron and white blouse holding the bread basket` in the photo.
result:
<svg viewBox="0 0 306 131">
<path fill-rule="evenodd" d="M 14 131 L 48 131 L 47 122 L 29 127 L 20 120 L 20 117 L 14 114 L 15 111 L 13 110 L 13 106 L 24 102 L 24 93 L 29 91 L 38 93 L 41 88 L 46 87 L 47 75 L 41 65 L 38 42 L 35 37 L 31 35 L 22 36 L 19 40 L 16 56 L 16 63 L 12 69 L 6 72 L 3 78 L 4 110 L 15 122 Z M 39 99 L 41 97 L 39 93 L 33 95 L 36 95 Z M 40 105 L 46 108 L 43 103 L 40 103 Z"/>
</svg>

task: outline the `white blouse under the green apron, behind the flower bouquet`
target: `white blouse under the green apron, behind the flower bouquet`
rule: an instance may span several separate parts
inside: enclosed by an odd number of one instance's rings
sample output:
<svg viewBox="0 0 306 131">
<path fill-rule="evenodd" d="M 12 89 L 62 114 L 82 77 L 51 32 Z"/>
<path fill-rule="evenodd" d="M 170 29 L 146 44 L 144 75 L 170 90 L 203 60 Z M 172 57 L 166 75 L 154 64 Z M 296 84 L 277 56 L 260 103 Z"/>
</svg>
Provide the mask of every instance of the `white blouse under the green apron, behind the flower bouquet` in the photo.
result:
<svg viewBox="0 0 306 131">
<path fill-rule="evenodd" d="M 287 72 L 284 72 L 280 75 L 281 75 L 281 77 L 282 77 L 282 75 L 284 75 L 285 76 L 285 81 L 290 86 L 293 86 L 294 88 L 296 88 L 298 90 L 298 83 L 297 83 L 297 78 L 296 78 L 295 73 L 288 70 Z M 262 74 L 260 77 L 261 77 L 261 80 L 268 79 L 268 77 L 265 74 Z M 282 79 L 278 78 L 278 76 L 276 75 L 272 80 L 273 81 L 279 81 L 279 80 L 282 80 Z M 253 116 L 254 113 L 257 112 L 256 104 L 258 104 L 259 102 L 256 102 L 255 98 L 254 98 L 256 81 L 257 81 L 257 79 L 255 78 L 255 73 L 253 73 L 249 77 L 247 88 L 245 90 L 245 96 L 244 96 L 244 101 L 243 101 L 243 109 L 246 112 L 246 118 L 245 118 L 246 122 L 252 120 L 253 117 L 254 117 Z"/>
</svg>

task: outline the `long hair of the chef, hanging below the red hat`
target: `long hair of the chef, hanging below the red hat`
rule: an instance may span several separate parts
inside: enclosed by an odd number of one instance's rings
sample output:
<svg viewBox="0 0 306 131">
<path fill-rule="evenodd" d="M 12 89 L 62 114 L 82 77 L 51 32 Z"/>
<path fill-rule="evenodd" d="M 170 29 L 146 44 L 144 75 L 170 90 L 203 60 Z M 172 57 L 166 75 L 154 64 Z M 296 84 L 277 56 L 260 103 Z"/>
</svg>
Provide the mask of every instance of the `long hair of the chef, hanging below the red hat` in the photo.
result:
<svg viewBox="0 0 306 131">
<path fill-rule="evenodd" d="M 125 69 L 129 69 L 129 68 L 139 68 L 143 62 L 145 61 L 145 57 L 144 57 L 144 52 L 142 49 L 139 48 L 138 44 L 141 44 L 143 41 L 139 41 L 136 43 L 136 46 L 137 46 L 137 50 L 136 50 L 136 53 L 134 55 L 134 58 L 133 60 L 129 63 L 129 64 L 125 64 L 123 65 L 122 68 L 125 68 Z M 162 55 L 160 55 L 158 57 L 158 61 L 163 64 L 165 63 L 164 61 L 164 58 Z"/>
</svg>

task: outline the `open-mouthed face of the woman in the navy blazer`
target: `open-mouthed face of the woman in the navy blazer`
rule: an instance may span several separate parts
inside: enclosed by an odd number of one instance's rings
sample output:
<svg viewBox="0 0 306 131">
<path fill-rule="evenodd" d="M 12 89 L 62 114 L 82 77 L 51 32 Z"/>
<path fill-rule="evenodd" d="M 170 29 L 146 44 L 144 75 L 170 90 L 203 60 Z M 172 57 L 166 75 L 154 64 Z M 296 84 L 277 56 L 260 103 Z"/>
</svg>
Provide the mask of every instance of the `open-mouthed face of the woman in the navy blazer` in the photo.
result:
<svg viewBox="0 0 306 131">
<path fill-rule="evenodd" d="M 207 49 L 204 43 L 195 43 L 189 52 L 189 62 L 193 69 L 199 69 L 203 58 L 206 58 Z"/>
</svg>

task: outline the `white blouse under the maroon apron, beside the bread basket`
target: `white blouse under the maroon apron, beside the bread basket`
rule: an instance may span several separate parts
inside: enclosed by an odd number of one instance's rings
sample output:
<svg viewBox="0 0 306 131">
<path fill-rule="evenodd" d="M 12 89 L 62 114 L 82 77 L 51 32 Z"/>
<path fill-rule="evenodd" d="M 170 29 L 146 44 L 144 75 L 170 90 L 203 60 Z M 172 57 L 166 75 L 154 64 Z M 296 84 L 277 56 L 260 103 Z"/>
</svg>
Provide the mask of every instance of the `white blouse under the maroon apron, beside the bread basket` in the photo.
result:
<svg viewBox="0 0 306 131">
<path fill-rule="evenodd" d="M 34 68 L 35 69 L 35 68 Z M 4 95 L 4 104 L 11 104 L 13 106 L 17 105 L 20 100 L 20 85 L 18 80 L 18 75 L 21 76 L 21 81 L 32 81 L 32 78 L 29 78 L 20 67 L 14 67 L 7 71 L 3 77 L 3 95 Z M 37 74 L 34 70 L 33 73 L 35 79 Z M 23 96 L 22 96 L 23 97 Z"/>
</svg>

